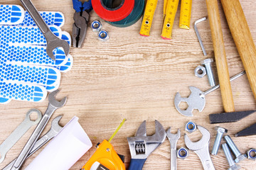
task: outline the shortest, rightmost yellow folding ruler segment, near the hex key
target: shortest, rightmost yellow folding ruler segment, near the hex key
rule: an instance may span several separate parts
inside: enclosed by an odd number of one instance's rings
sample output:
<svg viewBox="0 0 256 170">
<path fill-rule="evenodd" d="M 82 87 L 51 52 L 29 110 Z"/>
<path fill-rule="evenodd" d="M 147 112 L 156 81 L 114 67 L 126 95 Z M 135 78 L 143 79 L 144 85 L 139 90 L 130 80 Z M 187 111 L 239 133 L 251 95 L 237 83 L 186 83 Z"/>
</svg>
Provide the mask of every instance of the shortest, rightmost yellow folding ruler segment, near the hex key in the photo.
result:
<svg viewBox="0 0 256 170">
<path fill-rule="evenodd" d="M 191 20 L 192 0 L 181 0 L 181 16 L 179 28 L 189 29 Z"/>
</svg>

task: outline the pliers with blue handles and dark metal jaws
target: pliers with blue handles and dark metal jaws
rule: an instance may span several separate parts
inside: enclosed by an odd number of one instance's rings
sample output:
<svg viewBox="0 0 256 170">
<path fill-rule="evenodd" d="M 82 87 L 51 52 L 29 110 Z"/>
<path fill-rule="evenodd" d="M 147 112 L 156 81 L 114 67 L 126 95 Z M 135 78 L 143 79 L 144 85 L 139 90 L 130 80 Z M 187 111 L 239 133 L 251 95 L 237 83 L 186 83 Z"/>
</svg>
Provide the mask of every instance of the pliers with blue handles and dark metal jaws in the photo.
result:
<svg viewBox="0 0 256 170">
<path fill-rule="evenodd" d="M 91 0 L 82 1 L 73 0 L 73 8 L 75 9 L 74 21 L 73 23 L 73 47 L 81 47 L 82 42 L 85 40 L 85 35 L 87 31 L 87 23 L 90 19 L 90 11 L 92 11 Z"/>
</svg>

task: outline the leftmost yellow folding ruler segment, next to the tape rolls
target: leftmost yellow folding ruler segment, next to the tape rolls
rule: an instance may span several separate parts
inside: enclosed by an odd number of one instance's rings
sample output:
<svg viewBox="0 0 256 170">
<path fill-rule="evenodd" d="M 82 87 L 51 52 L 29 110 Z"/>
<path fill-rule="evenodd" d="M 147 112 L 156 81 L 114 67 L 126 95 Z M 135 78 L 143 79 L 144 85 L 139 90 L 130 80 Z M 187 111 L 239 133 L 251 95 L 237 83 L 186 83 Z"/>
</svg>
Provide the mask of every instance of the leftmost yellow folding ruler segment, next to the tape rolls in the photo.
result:
<svg viewBox="0 0 256 170">
<path fill-rule="evenodd" d="M 147 0 L 144 16 L 142 19 L 142 27 L 139 34 L 142 36 L 149 36 L 150 28 L 153 21 L 154 11 L 156 10 L 157 0 Z"/>
</svg>

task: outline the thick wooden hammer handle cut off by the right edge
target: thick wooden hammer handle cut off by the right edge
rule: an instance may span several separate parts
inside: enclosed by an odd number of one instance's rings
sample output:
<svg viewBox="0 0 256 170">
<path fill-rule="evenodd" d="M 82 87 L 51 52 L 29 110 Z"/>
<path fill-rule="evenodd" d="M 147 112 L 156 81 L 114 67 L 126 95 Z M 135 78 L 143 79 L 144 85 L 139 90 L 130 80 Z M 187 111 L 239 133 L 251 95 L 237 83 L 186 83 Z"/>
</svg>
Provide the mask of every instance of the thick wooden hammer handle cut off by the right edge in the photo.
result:
<svg viewBox="0 0 256 170">
<path fill-rule="evenodd" d="M 256 48 L 239 0 L 221 0 L 230 32 L 256 98 Z"/>
</svg>

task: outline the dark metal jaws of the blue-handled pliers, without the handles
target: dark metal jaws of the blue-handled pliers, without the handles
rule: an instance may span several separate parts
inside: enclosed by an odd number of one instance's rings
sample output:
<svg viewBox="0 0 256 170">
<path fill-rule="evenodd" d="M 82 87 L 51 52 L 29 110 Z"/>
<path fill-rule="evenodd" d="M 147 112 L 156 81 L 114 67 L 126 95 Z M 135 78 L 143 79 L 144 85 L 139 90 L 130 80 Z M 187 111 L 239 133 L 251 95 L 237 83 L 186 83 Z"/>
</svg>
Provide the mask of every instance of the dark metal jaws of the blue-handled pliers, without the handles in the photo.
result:
<svg viewBox="0 0 256 170">
<path fill-rule="evenodd" d="M 81 47 L 82 42 L 85 40 L 85 35 L 87 32 L 87 23 L 90 20 L 90 14 L 88 11 L 81 11 L 74 13 L 73 23 L 73 47 Z"/>
</svg>

